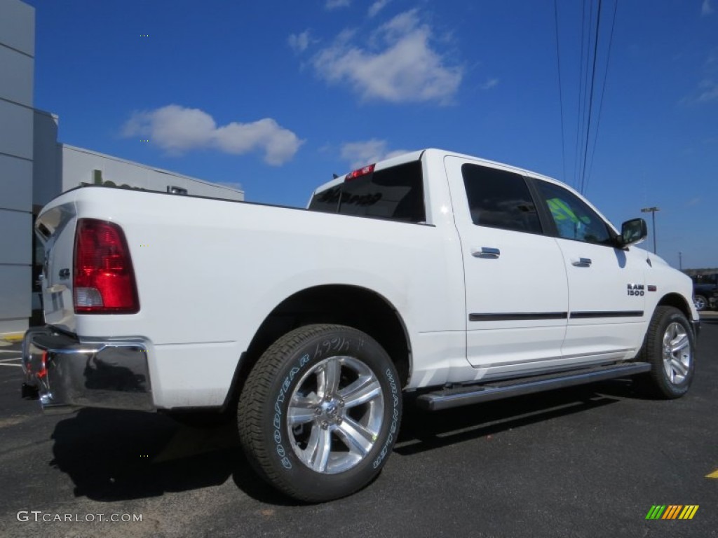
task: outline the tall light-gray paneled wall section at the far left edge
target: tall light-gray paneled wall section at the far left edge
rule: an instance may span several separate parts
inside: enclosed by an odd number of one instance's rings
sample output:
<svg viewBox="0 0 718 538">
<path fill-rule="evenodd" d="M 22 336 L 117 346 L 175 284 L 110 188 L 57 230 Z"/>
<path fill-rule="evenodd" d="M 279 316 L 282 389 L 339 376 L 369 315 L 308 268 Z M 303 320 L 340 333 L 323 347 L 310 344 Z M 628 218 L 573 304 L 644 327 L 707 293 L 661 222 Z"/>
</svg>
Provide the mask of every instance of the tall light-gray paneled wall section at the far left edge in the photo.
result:
<svg viewBox="0 0 718 538">
<path fill-rule="evenodd" d="M 34 54 L 34 9 L 0 0 L 0 336 L 30 316 Z"/>
</svg>

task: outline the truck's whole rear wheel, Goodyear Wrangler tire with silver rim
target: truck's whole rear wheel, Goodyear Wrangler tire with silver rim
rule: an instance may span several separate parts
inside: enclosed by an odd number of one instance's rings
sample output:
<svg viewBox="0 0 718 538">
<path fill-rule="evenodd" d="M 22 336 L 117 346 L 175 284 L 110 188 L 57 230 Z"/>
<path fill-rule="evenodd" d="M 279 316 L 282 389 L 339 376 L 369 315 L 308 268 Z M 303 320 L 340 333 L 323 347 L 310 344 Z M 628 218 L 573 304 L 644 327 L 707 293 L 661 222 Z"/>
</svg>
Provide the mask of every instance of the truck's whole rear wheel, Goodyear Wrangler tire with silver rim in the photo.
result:
<svg viewBox="0 0 718 538">
<path fill-rule="evenodd" d="M 347 326 L 308 325 L 258 359 L 239 399 L 238 430 L 266 481 L 294 499 L 329 501 L 381 471 L 401 403 L 396 368 L 374 339 Z"/>
</svg>

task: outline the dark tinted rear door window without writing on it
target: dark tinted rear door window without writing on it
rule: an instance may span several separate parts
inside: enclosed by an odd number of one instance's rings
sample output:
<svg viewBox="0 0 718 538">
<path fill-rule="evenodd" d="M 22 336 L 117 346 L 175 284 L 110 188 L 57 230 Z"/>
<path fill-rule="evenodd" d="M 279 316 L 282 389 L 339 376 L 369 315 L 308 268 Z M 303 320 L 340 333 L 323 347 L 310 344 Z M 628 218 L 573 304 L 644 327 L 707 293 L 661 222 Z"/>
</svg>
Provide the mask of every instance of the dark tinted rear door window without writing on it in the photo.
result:
<svg viewBox="0 0 718 538">
<path fill-rule="evenodd" d="M 523 177 L 476 164 L 461 167 L 475 225 L 541 233 L 536 206 Z"/>
</svg>

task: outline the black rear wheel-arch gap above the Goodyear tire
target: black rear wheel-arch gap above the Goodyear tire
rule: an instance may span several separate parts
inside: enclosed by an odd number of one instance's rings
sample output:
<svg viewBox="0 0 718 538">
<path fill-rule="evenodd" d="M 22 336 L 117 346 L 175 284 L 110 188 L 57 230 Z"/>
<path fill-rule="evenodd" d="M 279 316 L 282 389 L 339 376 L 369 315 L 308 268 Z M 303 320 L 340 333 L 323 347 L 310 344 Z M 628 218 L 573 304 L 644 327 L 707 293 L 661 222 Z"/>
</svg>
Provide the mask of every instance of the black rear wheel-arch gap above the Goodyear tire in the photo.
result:
<svg viewBox="0 0 718 538">
<path fill-rule="evenodd" d="M 294 293 L 266 316 L 242 354 L 225 405 L 238 399 L 248 373 L 274 341 L 297 327 L 320 323 L 347 325 L 369 334 L 391 357 L 401 386 L 406 386 L 411 374 L 411 341 L 398 310 L 367 288 L 327 284 Z"/>
</svg>

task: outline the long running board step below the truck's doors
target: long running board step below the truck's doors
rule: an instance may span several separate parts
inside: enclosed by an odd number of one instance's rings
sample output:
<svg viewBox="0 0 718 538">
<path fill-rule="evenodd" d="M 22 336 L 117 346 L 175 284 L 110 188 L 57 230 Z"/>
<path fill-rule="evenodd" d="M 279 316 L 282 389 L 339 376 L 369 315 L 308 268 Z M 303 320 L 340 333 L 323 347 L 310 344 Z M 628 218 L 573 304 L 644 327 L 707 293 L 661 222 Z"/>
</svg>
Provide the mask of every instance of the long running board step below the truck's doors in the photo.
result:
<svg viewBox="0 0 718 538">
<path fill-rule="evenodd" d="M 573 387 L 577 384 L 592 383 L 605 379 L 615 379 L 634 374 L 649 372 L 651 364 L 648 362 L 630 362 L 628 364 L 608 364 L 607 366 L 584 368 L 561 372 L 560 374 L 546 374 L 505 381 L 487 382 L 468 387 L 427 392 L 416 398 L 416 405 L 428 411 L 439 411 L 461 405 L 471 405 L 478 402 L 489 402 L 512 396 L 543 392 L 563 387 Z"/>
</svg>

